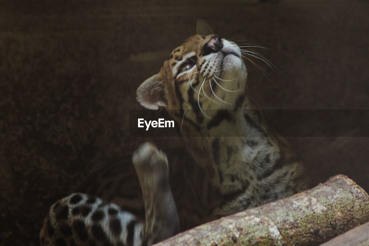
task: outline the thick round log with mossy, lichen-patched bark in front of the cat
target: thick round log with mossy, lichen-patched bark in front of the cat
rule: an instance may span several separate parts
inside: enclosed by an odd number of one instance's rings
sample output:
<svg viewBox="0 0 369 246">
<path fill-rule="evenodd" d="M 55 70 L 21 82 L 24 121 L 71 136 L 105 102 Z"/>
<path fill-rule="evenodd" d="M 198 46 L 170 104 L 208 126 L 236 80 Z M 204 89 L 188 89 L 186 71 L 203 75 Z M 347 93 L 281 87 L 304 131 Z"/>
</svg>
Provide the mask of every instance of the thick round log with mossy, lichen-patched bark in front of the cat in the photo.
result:
<svg viewBox="0 0 369 246">
<path fill-rule="evenodd" d="M 368 221 L 368 194 L 337 175 L 313 189 L 205 223 L 156 245 L 319 245 Z"/>
</svg>

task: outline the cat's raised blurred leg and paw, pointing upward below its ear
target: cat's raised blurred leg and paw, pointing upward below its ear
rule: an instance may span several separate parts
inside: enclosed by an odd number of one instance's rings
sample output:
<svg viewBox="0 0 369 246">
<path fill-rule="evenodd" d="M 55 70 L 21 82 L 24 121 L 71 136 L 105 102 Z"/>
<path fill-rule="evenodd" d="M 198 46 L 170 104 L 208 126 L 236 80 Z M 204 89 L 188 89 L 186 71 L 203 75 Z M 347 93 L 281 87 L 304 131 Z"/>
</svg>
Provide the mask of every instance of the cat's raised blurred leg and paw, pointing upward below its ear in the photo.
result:
<svg viewBox="0 0 369 246">
<path fill-rule="evenodd" d="M 145 240 L 148 245 L 179 233 L 179 218 L 169 185 L 168 159 L 152 143 L 132 156 L 145 202 Z"/>
</svg>

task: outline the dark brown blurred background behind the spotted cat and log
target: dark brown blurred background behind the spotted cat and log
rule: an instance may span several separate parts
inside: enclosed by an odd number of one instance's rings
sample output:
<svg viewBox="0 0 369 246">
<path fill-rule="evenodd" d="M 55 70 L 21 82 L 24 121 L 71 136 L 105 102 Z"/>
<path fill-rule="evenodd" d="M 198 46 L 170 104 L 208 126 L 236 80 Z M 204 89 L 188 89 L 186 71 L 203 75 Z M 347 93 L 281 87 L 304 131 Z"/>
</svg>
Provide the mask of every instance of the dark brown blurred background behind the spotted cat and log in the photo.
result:
<svg viewBox="0 0 369 246">
<path fill-rule="evenodd" d="M 270 48 L 258 51 L 280 69 L 259 63 L 272 82 L 248 65 L 261 108 L 332 110 L 369 108 L 368 13 L 364 0 L 0 0 L 0 245 L 38 243 L 51 204 L 147 139 L 129 136 L 135 91 L 198 17 L 240 45 Z M 360 136 L 354 122 L 341 136 L 288 140 L 313 185 L 345 174 L 368 191 Z"/>
</svg>

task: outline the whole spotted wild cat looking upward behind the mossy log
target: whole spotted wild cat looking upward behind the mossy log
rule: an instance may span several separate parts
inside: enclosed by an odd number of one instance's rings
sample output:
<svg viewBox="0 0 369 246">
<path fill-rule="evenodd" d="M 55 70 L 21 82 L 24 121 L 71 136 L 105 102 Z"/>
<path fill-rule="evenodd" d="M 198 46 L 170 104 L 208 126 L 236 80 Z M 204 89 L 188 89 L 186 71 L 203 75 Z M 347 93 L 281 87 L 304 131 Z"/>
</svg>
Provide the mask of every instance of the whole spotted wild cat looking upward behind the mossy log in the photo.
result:
<svg viewBox="0 0 369 246">
<path fill-rule="evenodd" d="M 142 106 L 176 121 L 184 148 L 165 154 L 145 143 L 132 168 L 103 168 L 51 206 L 41 245 L 151 245 L 306 189 L 302 164 L 255 110 L 246 77 L 238 45 L 198 21 L 197 35 L 137 89 Z"/>
</svg>

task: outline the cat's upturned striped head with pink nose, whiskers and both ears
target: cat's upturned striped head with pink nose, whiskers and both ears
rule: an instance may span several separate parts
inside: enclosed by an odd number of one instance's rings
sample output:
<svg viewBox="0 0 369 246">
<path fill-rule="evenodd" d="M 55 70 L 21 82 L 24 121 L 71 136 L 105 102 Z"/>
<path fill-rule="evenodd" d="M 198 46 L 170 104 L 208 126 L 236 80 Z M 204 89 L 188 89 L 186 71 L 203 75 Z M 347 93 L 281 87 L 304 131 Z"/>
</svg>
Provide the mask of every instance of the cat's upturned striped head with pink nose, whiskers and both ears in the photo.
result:
<svg viewBox="0 0 369 246">
<path fill-rule="evenodd" d="M 198 20 L 197 34 L 175 48 L 160 72 L 139 86 L 137 100 L 147 109 L 177 112 L 181 119 L 189 110 L 187 117 L 204 121 L 219 109 L 235 107 L 244 95 L 246 76 L 238 45 Z"/>
</svg>

